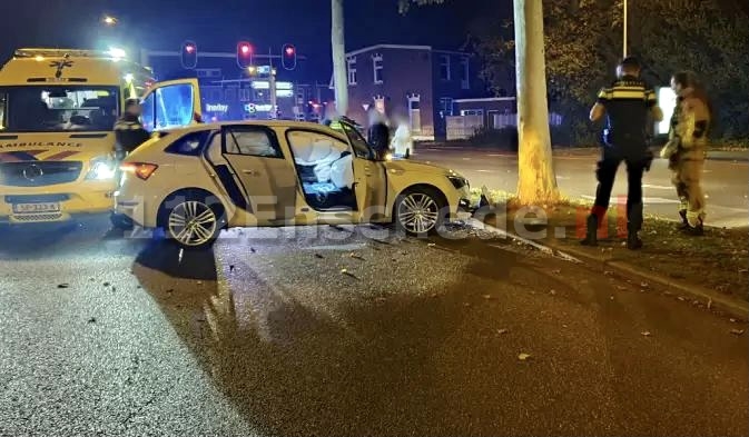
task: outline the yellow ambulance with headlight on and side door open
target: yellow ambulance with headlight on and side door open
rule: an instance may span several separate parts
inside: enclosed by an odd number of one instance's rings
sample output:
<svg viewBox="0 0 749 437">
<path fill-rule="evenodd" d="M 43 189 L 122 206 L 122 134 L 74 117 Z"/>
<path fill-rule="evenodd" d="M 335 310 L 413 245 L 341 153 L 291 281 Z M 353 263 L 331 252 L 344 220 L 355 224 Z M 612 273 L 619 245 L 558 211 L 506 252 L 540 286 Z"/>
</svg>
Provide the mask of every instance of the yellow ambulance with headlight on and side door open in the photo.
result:
<svg viewBox="0 0 749 437">
<path fill-rule="evenodd" d="M 129 98 L 151 131 L 200 113 L 197 79 L 157 83 L 121 50 L 17 50 L 0 69 L 0 225 L 112 211 L 114 126 Z"/>
</svg>

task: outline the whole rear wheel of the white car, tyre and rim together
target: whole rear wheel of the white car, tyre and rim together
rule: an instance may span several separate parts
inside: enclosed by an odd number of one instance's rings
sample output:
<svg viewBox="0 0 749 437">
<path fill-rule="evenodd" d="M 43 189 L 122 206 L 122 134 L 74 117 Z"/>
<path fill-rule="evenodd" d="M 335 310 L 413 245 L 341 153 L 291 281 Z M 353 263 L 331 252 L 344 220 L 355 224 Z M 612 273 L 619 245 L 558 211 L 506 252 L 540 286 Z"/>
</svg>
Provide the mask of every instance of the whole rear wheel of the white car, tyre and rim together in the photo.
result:
<svg viewBox="0 0 749 437">
<path fill-rule="evenodd" d="M 226 218 L 224 206 L 215 196 L 183 191 L 161 203 L 158 221 L 171 244 L 184 249 L 205 249 L 216 242 Z"/>
</svg>

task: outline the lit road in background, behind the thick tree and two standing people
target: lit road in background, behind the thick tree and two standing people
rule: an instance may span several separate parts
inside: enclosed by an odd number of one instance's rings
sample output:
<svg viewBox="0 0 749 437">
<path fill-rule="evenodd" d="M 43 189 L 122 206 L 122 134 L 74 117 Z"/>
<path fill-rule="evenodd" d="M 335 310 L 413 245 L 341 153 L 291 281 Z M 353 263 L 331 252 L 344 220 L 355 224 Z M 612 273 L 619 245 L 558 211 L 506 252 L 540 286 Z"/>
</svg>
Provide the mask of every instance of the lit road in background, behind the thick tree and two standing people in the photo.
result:
<svg viewBox="0 0 749 437">
<path fill-rule="evenodd" d="M 496 150 L 465 148 L 421 148 L 414 159 L 447 166 L 463 173 L 472 187 L 514 191 L 518 186 L 518 158 Z M 556 182 L 563 195 L 595 198 L 598 156 L 558 156 L 554 158 Z M 645 213 L 677 219 L 679 200 L 671 186 L 666 160 L 653 161 L 643 181 Z M 708 160 L 703 189 L 711 226 L 749 226 L 749 162 L 729 159 Z M 622 165 L 611 196 L 611 205 L 627 201 L 627 172 Z M 621 199 L 621 200 L 620 200 Z"/>
</svg>

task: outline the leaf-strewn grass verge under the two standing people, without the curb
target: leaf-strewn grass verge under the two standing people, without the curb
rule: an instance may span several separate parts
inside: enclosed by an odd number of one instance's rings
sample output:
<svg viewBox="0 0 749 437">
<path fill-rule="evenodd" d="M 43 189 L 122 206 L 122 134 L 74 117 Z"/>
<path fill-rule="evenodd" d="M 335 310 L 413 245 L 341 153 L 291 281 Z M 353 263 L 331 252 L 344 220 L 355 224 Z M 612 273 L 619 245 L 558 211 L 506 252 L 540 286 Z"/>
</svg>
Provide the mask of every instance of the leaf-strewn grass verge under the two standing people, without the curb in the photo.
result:
<svg viewBox="0 0 749 437">
<path fill-rule="evenodd" d="M 474 191 L 479 197 L 480 191 Z M 560 249 L 574 247 L 601 261 L 625 262 L 674 280 L 693 284 L 735 298 L 749 300 L 749 228 L 707 227 L 704 236 L 687 236 L 677 230 L 676 222 L 648 216 L 640 236 L 641 250 L 624 246 L 623 208 L 609 209 L 605 230 L 599 229 L 599 247 L 583 247 L 585 217 L 590 203 L 563 200 L 555 206 L 518 207 L 513 195 L 490 191 L 495 213 L 486 222 L 523 238 Z M 621 217 L 621 218 L 619 218 Z"/>
</svg>

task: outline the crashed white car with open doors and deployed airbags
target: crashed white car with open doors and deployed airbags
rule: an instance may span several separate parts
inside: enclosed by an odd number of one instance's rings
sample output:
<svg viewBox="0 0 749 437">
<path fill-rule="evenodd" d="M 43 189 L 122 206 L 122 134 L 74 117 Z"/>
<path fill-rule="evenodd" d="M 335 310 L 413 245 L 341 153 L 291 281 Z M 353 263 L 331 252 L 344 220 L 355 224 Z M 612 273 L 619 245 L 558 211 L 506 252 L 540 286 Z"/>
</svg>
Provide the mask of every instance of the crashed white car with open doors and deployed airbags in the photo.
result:
<svg viewBox="0 0 749 437">
<path fill-rule="evenodd" d="M 395 224 L 427 235 L 469 207 L 452 170 L 377 157 L 361 133 L 303 121 L 236 121 L 159 132 L 122 162 L 116 213 L 185 248 L 221 229 Z"/>
</svg>

